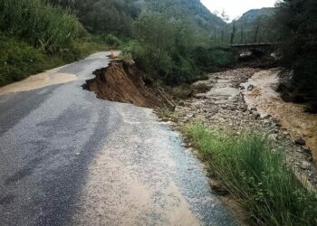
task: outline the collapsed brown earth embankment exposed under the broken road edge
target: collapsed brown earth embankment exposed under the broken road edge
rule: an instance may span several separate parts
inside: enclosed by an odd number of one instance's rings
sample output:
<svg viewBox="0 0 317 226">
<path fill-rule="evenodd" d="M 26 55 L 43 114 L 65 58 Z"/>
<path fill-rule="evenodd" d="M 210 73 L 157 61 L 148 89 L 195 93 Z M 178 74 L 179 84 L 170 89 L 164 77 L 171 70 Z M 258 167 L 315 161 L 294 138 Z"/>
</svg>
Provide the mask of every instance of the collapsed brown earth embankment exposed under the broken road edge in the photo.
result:
<svg viewBox="0 0 317 226">
<path fill-rule="evenodd" d="M 86 80 L 83 88 L 95 92 L 97 98 L 146 108 L 174 108 L 163 89 L 146 87 L 141 71 L 125 61 L 111 61 L 108 68 L 93 73 L 96 77 Z"/>
</svg>

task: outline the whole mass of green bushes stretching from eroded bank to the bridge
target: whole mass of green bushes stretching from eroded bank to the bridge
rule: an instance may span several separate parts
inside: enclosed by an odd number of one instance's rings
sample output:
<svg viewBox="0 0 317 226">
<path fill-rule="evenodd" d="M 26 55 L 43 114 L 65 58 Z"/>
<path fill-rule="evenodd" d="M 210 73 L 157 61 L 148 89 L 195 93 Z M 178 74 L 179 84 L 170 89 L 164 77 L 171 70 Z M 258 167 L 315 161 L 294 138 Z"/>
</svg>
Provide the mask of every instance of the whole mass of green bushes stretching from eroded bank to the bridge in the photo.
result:
<svg viewBox="0 0 317 226">
<path fill-rule="evenodd" d="M 189 83 L 202 71 L 222 68 L 235 62 L 226 48 L 210 48 L 203 33 L 168 14 L 145 12 L 132 24 L 137 42 L 123 52 L 130 52 L 148 83 L 162 80 L 168 85 Z M 200 36 L 199 36 L 200 35 Z"/>
</svg>

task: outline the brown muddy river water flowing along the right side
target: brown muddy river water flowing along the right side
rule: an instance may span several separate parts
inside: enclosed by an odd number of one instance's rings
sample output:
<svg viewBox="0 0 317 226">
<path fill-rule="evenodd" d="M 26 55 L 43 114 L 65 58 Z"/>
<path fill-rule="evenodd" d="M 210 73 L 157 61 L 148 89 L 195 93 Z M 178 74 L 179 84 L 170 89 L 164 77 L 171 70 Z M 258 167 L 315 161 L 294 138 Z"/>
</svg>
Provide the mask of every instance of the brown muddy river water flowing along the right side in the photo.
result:
<svg viewBox="0 0 317 226">
<path fill-rule="evenodd" d="M 245 89 L 245 102 L 249 108 L 257 108 L 258 112 L 272 115 L 280 120 L 293 138 L 303 137 L 312 150 L 313 159 L 317 159 L 317 115 L 303 112 L 304 105 L 286 103 L 281 99 L 276 88 L 278 70 L 256 72 L 245 84 L 255 86 L 253 90 Z"/>
</svg>

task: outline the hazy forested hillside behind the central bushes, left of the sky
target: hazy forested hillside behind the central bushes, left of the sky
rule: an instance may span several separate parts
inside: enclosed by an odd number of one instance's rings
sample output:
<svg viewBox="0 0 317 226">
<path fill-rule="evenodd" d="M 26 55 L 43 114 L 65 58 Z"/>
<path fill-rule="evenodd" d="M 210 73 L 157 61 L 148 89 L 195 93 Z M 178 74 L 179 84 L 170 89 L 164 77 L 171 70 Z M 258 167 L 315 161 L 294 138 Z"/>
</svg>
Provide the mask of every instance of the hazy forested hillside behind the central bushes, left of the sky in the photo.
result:
<svg viewBox="0 0 317 226">
<path fill-rule="evenodd" d="M 78 12 L 85 28 L 91 32 L 130 35 L 130 24 L 139 14 L 149 10 L 164 12 L 206 33 L 225 25 L 199 0 L 78 0 L 72 7 Z"/>
</svg>

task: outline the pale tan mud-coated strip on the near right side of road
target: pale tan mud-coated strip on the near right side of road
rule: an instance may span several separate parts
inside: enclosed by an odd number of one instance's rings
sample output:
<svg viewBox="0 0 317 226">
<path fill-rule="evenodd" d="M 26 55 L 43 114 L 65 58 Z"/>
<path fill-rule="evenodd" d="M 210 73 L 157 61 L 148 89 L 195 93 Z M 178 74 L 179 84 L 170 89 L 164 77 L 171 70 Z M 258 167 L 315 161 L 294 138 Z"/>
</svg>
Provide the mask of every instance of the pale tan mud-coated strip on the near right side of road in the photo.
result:
<svg viewBox="0 0 317 226">
<path fill-rule="evenodd" d="M 113 103 L 119 129 L 88 169 L 74 225 L 235 225 L 203 165 L 149 108 Z"/>
</svg>

